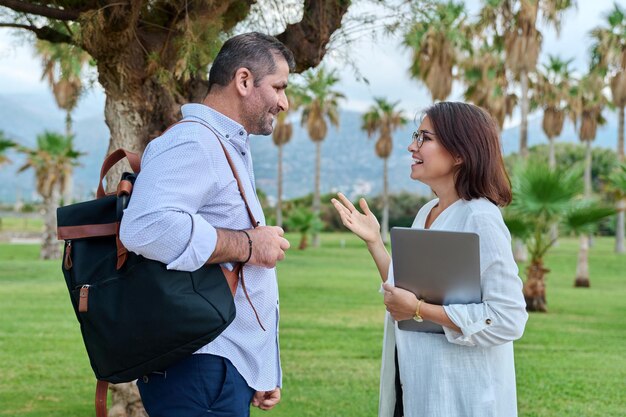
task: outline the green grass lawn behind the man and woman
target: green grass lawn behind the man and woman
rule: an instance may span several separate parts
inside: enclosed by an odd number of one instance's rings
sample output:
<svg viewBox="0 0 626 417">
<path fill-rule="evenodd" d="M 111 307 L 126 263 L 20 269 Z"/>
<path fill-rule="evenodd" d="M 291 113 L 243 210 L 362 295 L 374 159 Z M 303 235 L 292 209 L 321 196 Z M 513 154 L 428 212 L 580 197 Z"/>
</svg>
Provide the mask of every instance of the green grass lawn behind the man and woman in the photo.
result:
<svg viewBox="0 0 626 417">
<path fill-rule="evenodd" d="M 359 241 L 322 240 L 279 265 L 283 400 L 254 417 L 377 413 L 380 280 Z M 577 244 L 563 239 L 547 257 L 550 311 L 531 314 L 515 344 L 520 417 L 626 415 L 626 256 L 596 239 L 592 287 L 577 289 Z M 0 416 L 93 415 L 95 379 L 60 262 L 38 254 L 0 244 Z"/>
</svg>

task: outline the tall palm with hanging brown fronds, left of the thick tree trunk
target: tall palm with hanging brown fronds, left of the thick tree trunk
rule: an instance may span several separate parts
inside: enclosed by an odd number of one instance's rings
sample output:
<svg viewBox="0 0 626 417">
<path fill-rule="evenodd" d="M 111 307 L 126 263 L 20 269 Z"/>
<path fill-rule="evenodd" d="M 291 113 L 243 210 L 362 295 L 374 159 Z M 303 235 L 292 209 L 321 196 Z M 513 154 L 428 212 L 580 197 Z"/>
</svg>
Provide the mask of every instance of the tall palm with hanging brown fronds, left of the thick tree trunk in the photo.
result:
<svg viewBox="0 0 626 417">
<path fill-rule="evenodd" d="M 72 112 L 83 91 L 83 71 L 90 57 L 75 45 L 42 40 L 35 42 L 35 50 L 43 63 L 41 78 L 48 80 L 57 105 L 65 110 L 65 136 L 70 137 L 73 135 Z M 69 204 L 73 193 L 71 168 L 65 175 L 65 181 L 63 200 Z"/>
</svg>

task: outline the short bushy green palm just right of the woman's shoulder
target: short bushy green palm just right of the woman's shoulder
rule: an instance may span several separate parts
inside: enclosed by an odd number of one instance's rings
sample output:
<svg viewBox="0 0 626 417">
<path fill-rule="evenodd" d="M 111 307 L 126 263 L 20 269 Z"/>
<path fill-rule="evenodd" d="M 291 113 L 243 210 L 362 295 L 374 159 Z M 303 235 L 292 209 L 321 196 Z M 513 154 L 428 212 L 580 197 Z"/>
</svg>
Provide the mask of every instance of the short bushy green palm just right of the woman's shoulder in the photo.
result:
<svg viewBox="0 0 626 417">
<path fill-rule="evenodd" d="M 524 283 L 526 308 L 545 312 L 545 274 L 549 269 L 544 257 L 555 242 L 550 236 L 552 225 L 582 235 L 614 210 L 580 199 L 580 170 L 571 167 L 551 169 L 529 162 L 514 170 L 512 186 L 513 202 L 505 211 L 505 221 L 511 234 L 524 241 L 530 256 Z"/>
</svg>

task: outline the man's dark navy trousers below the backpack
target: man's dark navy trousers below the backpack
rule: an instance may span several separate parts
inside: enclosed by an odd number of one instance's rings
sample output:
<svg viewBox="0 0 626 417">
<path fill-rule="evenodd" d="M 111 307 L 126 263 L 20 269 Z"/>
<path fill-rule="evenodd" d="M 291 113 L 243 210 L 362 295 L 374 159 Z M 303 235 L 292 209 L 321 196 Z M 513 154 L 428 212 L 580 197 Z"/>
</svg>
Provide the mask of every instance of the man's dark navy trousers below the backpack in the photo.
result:
<svg viewBox="0 0 626 417">
<path fill-rule="evenodd" d="M 206 354 L 148 374 L 137 387 L 150 417 L 249 417 L 255 392 L 228 359 Z"/>
</svg>

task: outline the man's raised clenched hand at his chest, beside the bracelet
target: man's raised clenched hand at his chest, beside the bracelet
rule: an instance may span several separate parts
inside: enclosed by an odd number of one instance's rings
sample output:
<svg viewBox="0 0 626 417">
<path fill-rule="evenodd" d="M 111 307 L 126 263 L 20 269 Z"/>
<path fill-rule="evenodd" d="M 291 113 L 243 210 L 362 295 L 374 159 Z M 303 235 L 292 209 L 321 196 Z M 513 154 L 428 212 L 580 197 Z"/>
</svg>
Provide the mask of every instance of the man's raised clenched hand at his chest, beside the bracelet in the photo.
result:
<svg viewBox="0 0 626 417">
<path fill-rule="evenodd" d="M 252 240 L 252 256 L 249 264 L 273 268 L 278 261 L 285 259 L 289 241 L 283 236 L 284 230 L 278 226 L 259 226 L 246 230 Z"/>
</svg>

